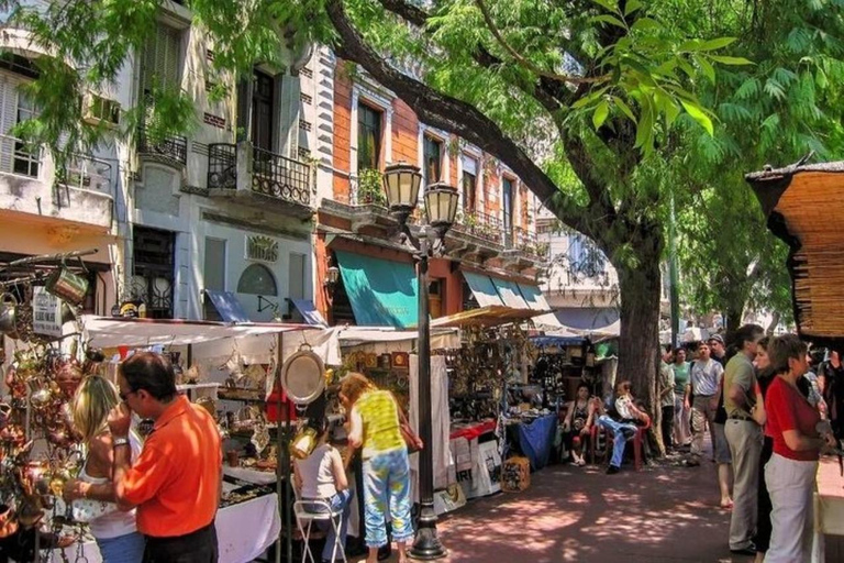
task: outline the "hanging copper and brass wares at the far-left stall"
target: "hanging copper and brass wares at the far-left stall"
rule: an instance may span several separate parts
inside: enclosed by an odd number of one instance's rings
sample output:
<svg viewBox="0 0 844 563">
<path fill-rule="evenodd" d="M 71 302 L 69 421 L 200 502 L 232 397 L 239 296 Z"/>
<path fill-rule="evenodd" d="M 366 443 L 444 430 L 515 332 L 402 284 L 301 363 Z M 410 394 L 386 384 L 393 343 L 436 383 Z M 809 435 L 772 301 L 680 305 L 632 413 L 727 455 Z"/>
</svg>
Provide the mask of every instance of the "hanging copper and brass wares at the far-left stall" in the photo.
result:
<svg viewBox="0 0 844 563">
<path fill-rule="evenodd" d="M 34 256 L 0 266 L 0 558 L 37 561 L 84 533 L 62 500 L 80 466 L 68 402 L 106 356 L 80 339 L 88 279 L 67 266 L 97 251 Z M 66 327 L 67 325 L 67 327 Z"/>
</svg>

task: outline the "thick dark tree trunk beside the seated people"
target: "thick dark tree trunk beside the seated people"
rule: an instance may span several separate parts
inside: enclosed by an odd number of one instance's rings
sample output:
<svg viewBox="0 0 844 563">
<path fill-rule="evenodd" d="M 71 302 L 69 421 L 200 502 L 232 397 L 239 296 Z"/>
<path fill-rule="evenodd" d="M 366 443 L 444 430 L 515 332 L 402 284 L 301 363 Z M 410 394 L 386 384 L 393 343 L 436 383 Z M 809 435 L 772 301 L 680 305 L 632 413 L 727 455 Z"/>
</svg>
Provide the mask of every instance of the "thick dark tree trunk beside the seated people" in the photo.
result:
<svg viewBox="0 0 844 563">
<path fill-rule="evenodd" d="M 664 452 L 659 423 L 662 408 L 657 400 L 659 371 L 659 245 L 636 254 L 640 266 L 615 266 L 621 292 L 621 338 L 619 373 L 615 380 L 629 379 L 633 396 L 642 399 L 651 415 L 651 439 Z"/>
</svg>

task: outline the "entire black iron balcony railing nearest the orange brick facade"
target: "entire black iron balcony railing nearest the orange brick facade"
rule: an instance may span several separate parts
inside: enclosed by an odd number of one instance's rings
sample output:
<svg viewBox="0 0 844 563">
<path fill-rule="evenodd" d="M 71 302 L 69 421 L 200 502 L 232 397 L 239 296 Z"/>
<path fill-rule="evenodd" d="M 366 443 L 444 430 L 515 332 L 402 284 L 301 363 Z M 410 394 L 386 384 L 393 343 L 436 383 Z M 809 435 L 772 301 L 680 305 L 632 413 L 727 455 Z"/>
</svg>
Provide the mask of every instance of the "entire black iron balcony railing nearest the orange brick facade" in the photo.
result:
<svg viewBox="0 0 844 563">
<path fill-rule="evenodd" d="M 237 163 L 245 163 L 247 158 L 252 159 L 251 175 L 244 174 L 245 170 L 237 170 Z M 242 176 L 240 183 L 238 176 Z M 310 207 L 311 167 L 292 158 L 253 147 L 249 143 L 216 143 L 208 147 L 208 188 L 248 190 L 252 194 Z"/>
</svg>

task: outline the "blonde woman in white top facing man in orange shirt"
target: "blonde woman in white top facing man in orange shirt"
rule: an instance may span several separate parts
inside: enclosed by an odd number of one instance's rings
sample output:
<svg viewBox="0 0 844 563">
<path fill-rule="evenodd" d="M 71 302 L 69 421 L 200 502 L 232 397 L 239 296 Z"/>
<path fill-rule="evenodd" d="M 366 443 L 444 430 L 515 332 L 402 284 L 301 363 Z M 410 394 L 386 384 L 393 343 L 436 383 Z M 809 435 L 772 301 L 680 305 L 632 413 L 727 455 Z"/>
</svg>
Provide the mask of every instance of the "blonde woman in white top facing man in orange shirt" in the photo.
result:
<svg viewBox="0 0 844 563">
<path fill-rule="evenodd" d="M 86 377 L 76 390 L 70 411 L 87 455 L 79 476 L 65 484 L 64 497 L 68 503 L 76 501 L 75 514 L 81 508 L 79 511 L 93 516 L 89 526 L 102 561 L 138 563 L 144 554 L 144 537 L 135 527 L 135 511 L 118 509 L 111 481 L 114 457 L 108 417 L 119 404 L 118 388 L 99 375 Z M 141 442 L 132 432 L 129 440 L 135 457 Z"/>
</svg>

